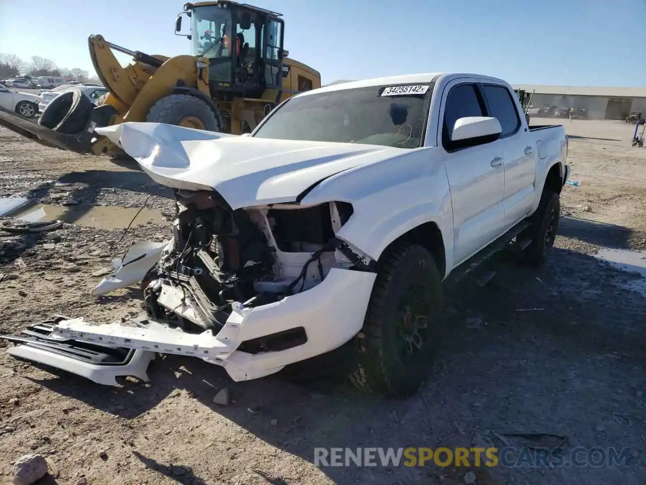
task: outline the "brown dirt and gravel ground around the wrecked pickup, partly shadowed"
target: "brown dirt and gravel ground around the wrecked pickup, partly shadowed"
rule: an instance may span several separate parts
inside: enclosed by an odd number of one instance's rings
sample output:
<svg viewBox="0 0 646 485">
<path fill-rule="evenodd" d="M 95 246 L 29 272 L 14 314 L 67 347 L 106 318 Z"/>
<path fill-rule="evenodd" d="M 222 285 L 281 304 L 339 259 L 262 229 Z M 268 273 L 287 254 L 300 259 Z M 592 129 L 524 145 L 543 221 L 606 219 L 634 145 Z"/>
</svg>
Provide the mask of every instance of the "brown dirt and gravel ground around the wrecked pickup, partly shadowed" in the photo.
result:
<svg viewBox="0 0 646 485">
<path fill-rule="evenodd" d="M 625 289 L 639 275 L 593 255 L 646 249 L 646 149 L 630 147 L 623 122 L 565 127 L 579 186 L 565 186 L 547 266 L 527 270 L 499 257 L 453 290 L 441 354 L 413 398 L 371 399 L 331 381 L 233 383 L 214 365 L 175 356 L 151 363 L 149 383 L 103 387 L 0 349 L 0 477 L 10 480 L 21 455 L 41 453 L 57 475 L 45 480 L 52 484 L 457 484 L 466 469 L 317 468 L 314 448 L 501 447 L 505 433 L 554 433 L 567 449 L 628 447 L 627 466 L 498 466 L 477 471 L 476 483 L 643 484 L 646 297 Z M 80 221 L 93 206 L 132 209 L 158 191 L 127 165 L 0 129 L 0 196 L 76 202 L 63 216 L 70 225 L 52 235 L 0 232 L 2 332 L 55 313 L 105 322 L 138 311 L 136 288 L 92 299 L 101 279 L 92 273 L 132 240 L 167 237 L 165 222 L 143 221 L 117 243 L 130 212 L 115 210 L 121 225 L 111 230 Z M 171 210 L 161 197 L 149 207 Z M 231 403 L 213 404 L 225 386 Z"/>
</svg>

